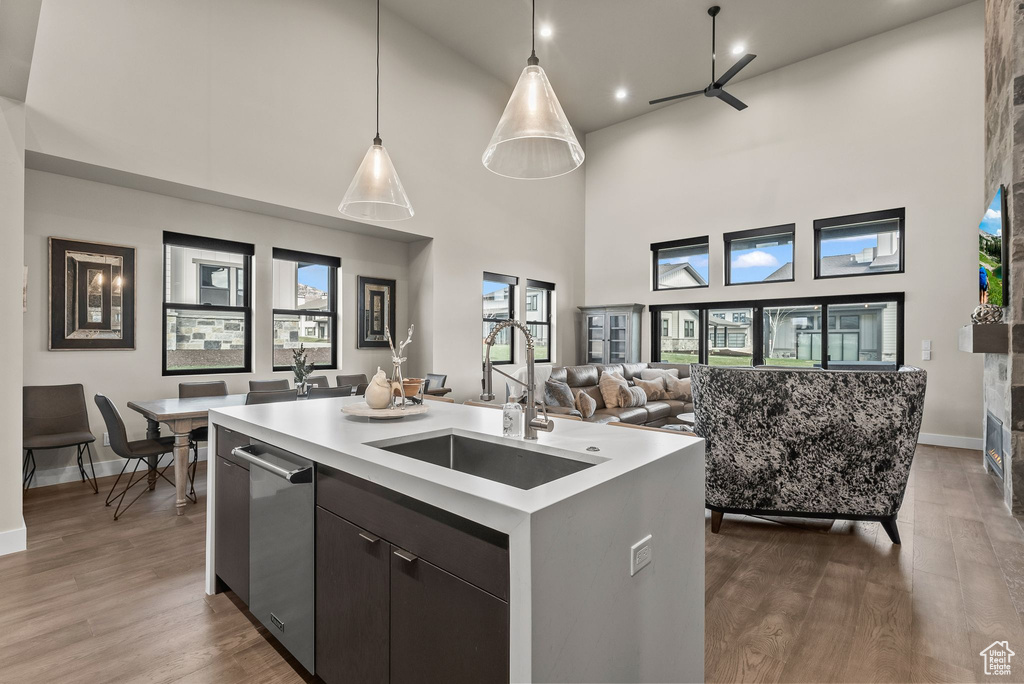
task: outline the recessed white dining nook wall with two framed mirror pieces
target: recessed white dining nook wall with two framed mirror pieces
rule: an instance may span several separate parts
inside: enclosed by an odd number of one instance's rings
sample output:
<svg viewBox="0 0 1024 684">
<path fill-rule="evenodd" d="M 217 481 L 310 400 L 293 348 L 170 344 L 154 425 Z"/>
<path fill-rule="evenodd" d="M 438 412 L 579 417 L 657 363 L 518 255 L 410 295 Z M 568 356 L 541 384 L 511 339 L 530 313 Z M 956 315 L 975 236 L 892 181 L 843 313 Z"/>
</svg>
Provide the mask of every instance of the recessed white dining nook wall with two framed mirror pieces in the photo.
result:
<svg viewBox="0 0 1024 684">
<path fill-rule="evenodd" d="M 234 209 L 154 195 L 68 176 L 29 171 L 25 187 L 25 256 L 29 270 L 29 311 L 25 316 L 25 384 L 81 382 L 89 402 L 89 422 L 97 436 L 100 460 L 120 460 L 101 445 L 103 422 L 92 401 L 106 394 L 117 404 L 129 437 L 145 436 L 145 422 L 129 411 L 129 400 L 177 395 L 182 381 L 226 380 L 231 392 L 248 390 L 249 380 L 292 379 L 291 372 L 272 373 L 272 250 L 298 249 L 341 257 L 341 343 L 337 373 L 371 373 L 390 368 L 387 349 L 356 349 L 356 276 L 373 273 L 397 281 L 397 324 L 408 326 L 408 244 L 272 218 Z M 163 231 L 206 234 L 252 243 L 254 259 L 252 374 L 163 377 L 161 315 Z M 134 351 L 47 351 L 47 238 L 72 238 L 127 245 L 136 250 L 136 349 Z M 16 319 L 20 322 L 20 274 Z M 20 395 L 18 395 L 18 411 Z M 4 412 L 6 415 L 7 412 Z M 20 435 L 20 426 L 12 430 Z M 39 468 L 70 465 L 74 450 L 42 452 Z M 15 478 L 16 479 L 16 478 Z M 2 529 L 2 527 L 0 527 Z"/>
</svg>

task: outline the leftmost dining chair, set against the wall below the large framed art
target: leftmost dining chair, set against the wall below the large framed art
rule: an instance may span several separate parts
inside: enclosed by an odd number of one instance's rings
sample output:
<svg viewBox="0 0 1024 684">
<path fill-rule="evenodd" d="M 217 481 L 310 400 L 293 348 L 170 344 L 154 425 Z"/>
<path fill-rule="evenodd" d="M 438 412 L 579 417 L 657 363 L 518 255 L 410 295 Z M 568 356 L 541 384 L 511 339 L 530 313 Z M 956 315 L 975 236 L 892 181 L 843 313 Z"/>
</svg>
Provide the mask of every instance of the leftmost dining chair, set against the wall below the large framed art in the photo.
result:
<svg viewBox="0 0 1024 684">
<path fill-rule="evenodd" d="M 78 472 L 93 493 L 99 491 L 96 470 L 92 465 L 92 442 L 96 437 L 89 427 L 89 410 L 82 385 L 34 385 L 22 388 L 22 464 L 23 485 L 32 486 L 36 476 L 36 452 L 74 446 L 78 452 Z M 82 457 L 89 459 L 90 476 Z"/>
</svg>

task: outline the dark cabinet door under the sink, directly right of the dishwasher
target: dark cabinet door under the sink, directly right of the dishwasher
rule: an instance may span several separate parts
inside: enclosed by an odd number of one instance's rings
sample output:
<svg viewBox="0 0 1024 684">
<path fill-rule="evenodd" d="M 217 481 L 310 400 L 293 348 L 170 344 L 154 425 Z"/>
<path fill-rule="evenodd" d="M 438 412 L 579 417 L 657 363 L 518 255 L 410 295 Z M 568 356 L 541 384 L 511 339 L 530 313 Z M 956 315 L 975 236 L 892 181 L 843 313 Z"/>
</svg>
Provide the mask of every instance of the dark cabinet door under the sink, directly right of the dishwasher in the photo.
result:
<svg viewBox="0 0 1024 684">
<path fill-rule="evenodd" d="M 388 681 L 391 545 L 316 509 L 316 675 Z"/>
</svg>

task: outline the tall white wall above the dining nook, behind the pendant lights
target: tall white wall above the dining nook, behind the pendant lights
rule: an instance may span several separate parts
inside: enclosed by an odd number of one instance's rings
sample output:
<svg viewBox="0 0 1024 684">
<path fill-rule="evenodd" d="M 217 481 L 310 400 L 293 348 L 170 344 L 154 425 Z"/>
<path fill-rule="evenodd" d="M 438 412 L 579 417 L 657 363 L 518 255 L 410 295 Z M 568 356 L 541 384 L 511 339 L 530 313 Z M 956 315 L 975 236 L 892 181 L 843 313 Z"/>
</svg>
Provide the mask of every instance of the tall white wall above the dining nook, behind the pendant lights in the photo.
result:
<svg viewBox="0 0 1024 684">
<path fill-rule="evenodd" d="M 374 22 L 371 0 L 48 0 L 28 144 L 336 215 L 374 135 Z M 409 302 L 424 336 L 410 370 L 449 374 L 458 398 L 479 392 L 484 270 L 556 284 L 557 357 L 571 359 L 583 172 L 492 174 L 480 156 L 511 86 L 387 9 L 382 41 L 381 135 L 416 208 L 391 226 L 434 239 L 417 263 L 430 287 Z"/>
</svg>

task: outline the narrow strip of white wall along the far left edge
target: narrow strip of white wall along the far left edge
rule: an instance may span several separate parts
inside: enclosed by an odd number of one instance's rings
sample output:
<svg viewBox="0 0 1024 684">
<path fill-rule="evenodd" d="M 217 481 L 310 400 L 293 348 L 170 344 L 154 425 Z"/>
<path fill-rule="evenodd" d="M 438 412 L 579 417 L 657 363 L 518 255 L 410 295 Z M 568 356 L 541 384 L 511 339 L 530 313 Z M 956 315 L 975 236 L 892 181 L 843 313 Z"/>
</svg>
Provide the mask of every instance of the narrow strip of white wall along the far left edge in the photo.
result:
<svg viewBox="0 0 1024 684">
<path fill-rule="evenodd" d="M 25 104 L 0 97 L 0 555 L 25 549 L 22 517 L 22 259 L 25 244 Z"/>
</svg>

